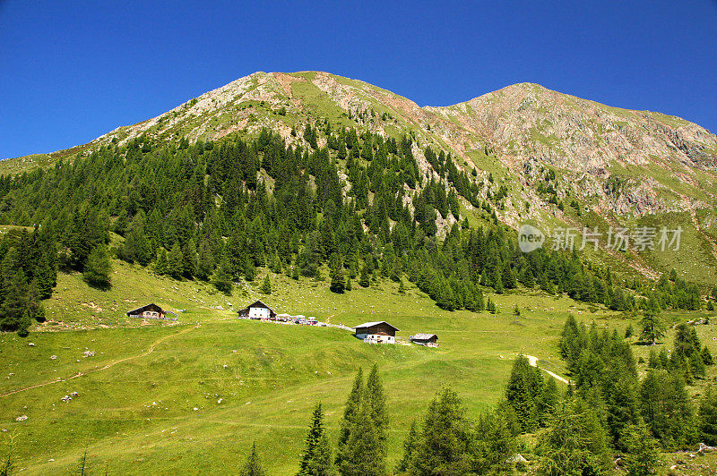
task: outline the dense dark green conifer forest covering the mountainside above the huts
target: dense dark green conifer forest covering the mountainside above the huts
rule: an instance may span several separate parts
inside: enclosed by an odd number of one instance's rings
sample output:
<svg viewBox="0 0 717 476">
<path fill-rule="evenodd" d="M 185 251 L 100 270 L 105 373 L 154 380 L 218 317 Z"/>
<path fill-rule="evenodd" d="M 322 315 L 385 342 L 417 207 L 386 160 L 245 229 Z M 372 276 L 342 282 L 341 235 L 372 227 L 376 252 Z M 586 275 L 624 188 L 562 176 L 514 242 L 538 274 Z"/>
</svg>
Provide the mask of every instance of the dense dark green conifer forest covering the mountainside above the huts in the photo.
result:
<svg viewBox="0 0 717 476">
<path fill-rule="evenodd" d="M 384 139 L 324 121 L 307 124 L 302 143 L 292 147 L 269 130 L 193 144 L 143 136 L 0 177 L 0 223 L 34 227 L 7 234 L 0 246 L 2 328 L 42 319 L 39 301 L 57 269 L 110 286 L 108 254 L 160 275 L 211 281 L 224 293 L 254 280 L 259 267 L 323 278 L 325 264 L 335 293 L 378 276 L 406 278 L 445 310 L 495 312 L 484 292 L 519 284 L 612 310 L 647 309 L 648 298 L 661 309 L 701 305 L 699 289 L 677 276 L 653 290 L 636 280 L 628 286 L 576 252 L 520 252 L 493 211 L 505 186 L 430 147 L 430 170 L 420 174 L 410 136 Z M 479 199 L 483 187 L 487 200 Z M 480 210 L 483 226 L 471 227 L 461 200 Z M 108 250 L 110 232 L 124 240 Z"/>
</svg>

